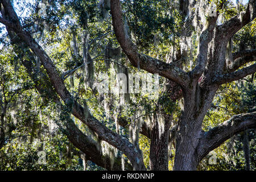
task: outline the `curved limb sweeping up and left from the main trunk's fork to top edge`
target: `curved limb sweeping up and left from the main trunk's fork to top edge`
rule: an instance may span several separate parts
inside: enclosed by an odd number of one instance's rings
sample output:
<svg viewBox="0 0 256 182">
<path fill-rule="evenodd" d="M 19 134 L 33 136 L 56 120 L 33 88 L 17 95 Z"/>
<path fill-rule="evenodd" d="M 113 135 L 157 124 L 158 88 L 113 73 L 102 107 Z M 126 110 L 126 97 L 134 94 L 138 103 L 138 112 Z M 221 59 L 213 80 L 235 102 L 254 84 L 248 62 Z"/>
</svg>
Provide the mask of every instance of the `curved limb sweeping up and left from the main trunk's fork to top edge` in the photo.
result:
<svg viewBox="0 0 256 182">
<path fill-rule="evenodd" d="M 121 2 L 119 0 L 111 0 L 110 13 L 112 14 L 112 22 L 115 36 L 129 58 L 130 63 L 134 67 L 144 69 L 150 73 L 158 73 L 160 76 L 166 77 L 180 85 L 187 85 L 188 75 L 180 68 L 175 67 L 174 64 L 164 63 L 153 57 L 138 53 L 136 45 L 125 34 L 125 27 L 123 26 L 123 15 L 121 9 Z"/>
</svg>

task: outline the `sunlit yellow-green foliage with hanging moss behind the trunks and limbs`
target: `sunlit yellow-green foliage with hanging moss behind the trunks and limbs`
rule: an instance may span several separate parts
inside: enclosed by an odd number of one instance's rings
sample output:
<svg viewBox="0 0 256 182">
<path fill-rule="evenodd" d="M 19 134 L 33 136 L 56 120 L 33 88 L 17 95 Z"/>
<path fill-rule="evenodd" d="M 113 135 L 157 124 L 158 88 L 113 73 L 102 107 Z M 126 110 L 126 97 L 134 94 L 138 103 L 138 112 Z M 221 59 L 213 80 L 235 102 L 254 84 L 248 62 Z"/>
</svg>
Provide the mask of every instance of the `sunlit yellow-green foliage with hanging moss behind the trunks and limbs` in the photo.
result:
<svg viewBox="0 0 256 182">
<path fill-rule="evenodd" d="M 119 48 L 112 28 L 109 7 L 99 4 L 98 1 L 89 0 L 58 0 L 37 1 L 35 5 L 26 1 L 14 1 L 15 10 L 28 11 L 27 16 L 21 16 L 21 22 L 26 31 L 31 32 L 40 45 L 46 50 L 53 60 L 60 75 L 76 69 L 64 80 L 73 98 L 83 105 L 86 101 L 90 113 L 101 121 L 110 130 L 128 138 L 138 144 L 142 150 L 144 164 L 150 167 L 150 139 L 144 135 L 138 135 L 137 126 L 143 121 L 149 121 L 152 115 L 163 111 L 162 114 L 173 115 L 172 126 L 176 125 L 182 114 L 183 100 L 172 101 L 168 93 L 164 93 L 166 80 L 160 78 L 159 100 L 150 100 L 148 95 L 130 94 L 130 98 L 114 95 L 112 93 L 101 94 L 94 88 L 86 85 L 86 70 L 84 64 L 85 35 L 89 35 L 88 54 L 92 58 L 94 70 L 94 82 L 102 81 L 101 73 L 110 76 L 119 69 L 125 68 L 129 73 L 146 73 L 139 68 L 127 64 L 124 53 L 115 57 L 107 57 L 107 47 Z M 168 60 L 172 48 L 181 50 L 177 44 L 183 29 L 180 27 L 182 16 L 174 7 L 170 7 L 170 1 L 124 1 L 122 3 L 127 34 L 134 38 L 140 52 L 148 53 L 153 57 Z M 45 7 L 42 7 L 44 5 Z M 237 14 L 237 10 L 230 8 L 228 3 L 223 13 L 222 22 Z M 241 10 L 245 7 L 241 6 Z M 44 11 L 42 14 L 40 11 Z M 240 10 L 239 10 L 240 11 Z M 0 27 L 0 32 L 4 28 Z M 196 33 L 193 31 L 191 55 L 192 62 L 196 55 Z M 242 28 L 233 37 L 233 51 L 241 48 L 255 49 L 255 20 Z M 0 148 L 1 170 L 82 170 L 81 151 L 74 147 L 65 136 L 65 121 L 75 122 L 79 129 L 97 140 L 97 135 L 88 127 L 71 115 L 69 107 L 57 108 L 56 104 L 47 100 L 46 95 L 40 95 L 35 89 L 34 80 L 46 76 L 40 61 L 33 62 L 31 67 L 36 70 L 34 77 L 28 75 L 22 61 L 29 60 L 28 56 L 22 57 L 20 51 L 11 45 L 5 32 L 0 37 L 0 102 L 1 113 L 5 118 L 5 143 Z M 76 45 L 74 40 L 77 41 Z M 75 51 L 77 46 L 77 54 Z M 176 46 L 176 47 L 175 47 Z M 195 48 L 195 49 L 193 49 Z M 110 60 L 109 60 L 110 59 Z M 193 65 L 185 63 L 187 68 Z M 88 70 L 87 70 L 88 71 Z M 47 77 L 47 76 L 46 76 Z M 47 77 L 48 78 L 48 77 Z M 108 78 L 106 78 L 108 79 Z M 247 80 L 232 82 L 222 85 L 214 98 L 213 107 L 209 109 L 203 123 L 205 131 L 217 126 L 232 117 L 232 115 L 255 111 L 255 78 L 247 77 Z M 142 84 L 142 83 L 140 83 Z M 51 87 L 50 85 L 47 85 Z M 46 89 L 47 88 L 43 88 Z M 50 94 L 50 93 L 48 93 Z M 121 104 L 125 100 L 126 105 Z M 104 101 L 103 101 L 104 100 Z M 71 103 L 72 105 L 73 103 Z M 117 125 L 114 118 L 125 118 L 127 124 L 133 126 L 133 140 L 131 131 Z M 175 147 L 169 144 L 169 169 L 174 165 Z M 249 146 L 251 152 L 251 169 L 255 170 L 256 145 L 255 131 L 249 130 Z M 38 152 L 46 152 L 46 164 L 38 164 Z M 217 156 L 217 164 L 209 164 L 209 156 L 200 163 L 200 170 L 243 170 L 245 159 L 243 154 L 243 134 L 238 134 L 214 150 Z M 93 162 L 88 162 L 88 170 L 103 170 Z"/>
</svg>

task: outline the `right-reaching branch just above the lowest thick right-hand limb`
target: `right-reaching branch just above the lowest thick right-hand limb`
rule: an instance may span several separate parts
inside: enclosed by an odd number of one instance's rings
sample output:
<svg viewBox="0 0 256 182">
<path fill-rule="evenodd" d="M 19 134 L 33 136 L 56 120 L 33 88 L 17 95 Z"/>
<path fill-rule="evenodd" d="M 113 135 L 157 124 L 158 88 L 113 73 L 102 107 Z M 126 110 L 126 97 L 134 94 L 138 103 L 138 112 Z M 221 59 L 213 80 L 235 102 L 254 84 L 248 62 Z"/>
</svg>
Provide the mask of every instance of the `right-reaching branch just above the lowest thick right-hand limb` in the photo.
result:
<svg viewBox="0 0 256 182">
<path fill-rule="evenodd" d="M 235 71 L 232 73 L 227 73 L 225 75 L 216 76 L 213 79 L 212 83 L 218 84 L 218 85 L 225 84 L 227 82 L 240 80 L 241 78 L 251 75 L 255 72 L 256 72 L 256 63 L 253 65 L 250 65 L 249 67 L 239 69 L 238 71 Z"/>
</svg>

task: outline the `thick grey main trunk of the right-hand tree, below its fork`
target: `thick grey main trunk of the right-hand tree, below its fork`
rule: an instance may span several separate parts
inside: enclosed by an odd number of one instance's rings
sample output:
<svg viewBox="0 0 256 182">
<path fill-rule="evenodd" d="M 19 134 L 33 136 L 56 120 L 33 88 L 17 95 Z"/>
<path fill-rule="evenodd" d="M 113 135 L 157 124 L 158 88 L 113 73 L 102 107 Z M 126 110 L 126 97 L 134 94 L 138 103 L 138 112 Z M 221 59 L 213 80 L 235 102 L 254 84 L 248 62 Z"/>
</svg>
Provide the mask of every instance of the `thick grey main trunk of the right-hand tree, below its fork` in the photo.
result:
<svg viewBox="0 0 256 182">
<path fill-rule="evenodd" d="M 194 85 L 192 91 L 184 89 L 184 113 L 176 137 L 175 171 L 197 169 L 200 162 L 198 148 L 203 134 L 201 129 L 203 119 L 218 88 L 218 86 L 200 88 L 197 82 L 192 85 Z"/>
</svg>

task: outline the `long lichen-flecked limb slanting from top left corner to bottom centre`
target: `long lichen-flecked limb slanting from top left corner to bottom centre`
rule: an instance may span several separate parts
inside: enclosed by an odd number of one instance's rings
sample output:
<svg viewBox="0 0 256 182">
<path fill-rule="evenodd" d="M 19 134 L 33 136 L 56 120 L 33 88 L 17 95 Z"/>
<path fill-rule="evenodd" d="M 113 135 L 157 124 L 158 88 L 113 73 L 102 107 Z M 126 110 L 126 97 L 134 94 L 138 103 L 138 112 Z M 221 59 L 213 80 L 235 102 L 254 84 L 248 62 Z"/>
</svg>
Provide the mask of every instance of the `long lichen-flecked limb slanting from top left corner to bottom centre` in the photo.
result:
<svg viewBox="0 0 256 182">
<path fill-rule="evenodd" d="M 65 105 L 71 107 L 72 114 L 80 119 L 85 125 L 87 125 L 91 130 L 97 133 L 98 138 L 104 140 L 116 147 L 118 150 L 122 151 L 127 158 L 133 164 L 134 169 L 136 170 L 145 170 L 143 163 L 142 155 L 139 154 L 136 146 L 129 142 L 128 139 L 114 133 L 112 130 L 108 129 L 104 124 L 98 121 L 89 113 L 89 109 L 85 105 L 85 108 L 82 107 L 77 101 L 75 101 L 66 88 L 64 81 L 61 79 L 59 72 L 57 71 L 55 65 L 43 48 L 35 41 L 32 36 L 22 29 L 22 26 L 19 23 L 18 16 L 16 15 L 13 6 L 11 6 L 10 1 L 2 0 L 3 6 L 5 7 L 6 13 L 10 16 L 11 19 L 15 21 L 12 24 L 12 30 L 19 36 L 22 42 L 26 43 L 28 47 L 39 57 L 44 68 L 47 71 L 47 75 L 51 80 L 51 85 L 56 90 L 60 98 L 65 102 Z"/>
</svg>

